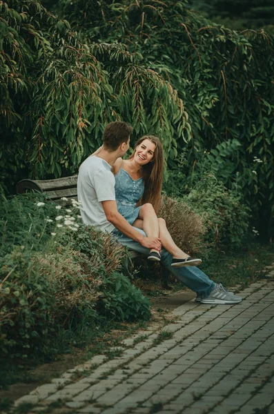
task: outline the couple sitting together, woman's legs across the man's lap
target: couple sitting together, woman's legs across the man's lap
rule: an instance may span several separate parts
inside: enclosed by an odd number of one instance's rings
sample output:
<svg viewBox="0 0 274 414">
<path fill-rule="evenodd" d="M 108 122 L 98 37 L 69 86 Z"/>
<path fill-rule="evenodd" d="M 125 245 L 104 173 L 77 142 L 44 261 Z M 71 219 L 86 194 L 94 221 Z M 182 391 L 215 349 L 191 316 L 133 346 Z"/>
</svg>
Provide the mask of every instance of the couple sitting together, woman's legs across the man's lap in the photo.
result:
<svg viewBox="0 0 274 414">
<path fill-rule="evenodd" d="M 237 304 L 235 296 L 215 284 L 193 259 L 173 242 L 164 219 L 157 217 L 161 204 L 164 154 L 153 135 L 141 137 L 133 154 L 123 161 L 133 129 L 116 121 L 104 130 L 103 146 L 79 168 L 78 199 L 84 224 L 111 233 L 124 246 L 160 262 L 177 279 L 197 293 L 203 304 Z"/>
</svg>

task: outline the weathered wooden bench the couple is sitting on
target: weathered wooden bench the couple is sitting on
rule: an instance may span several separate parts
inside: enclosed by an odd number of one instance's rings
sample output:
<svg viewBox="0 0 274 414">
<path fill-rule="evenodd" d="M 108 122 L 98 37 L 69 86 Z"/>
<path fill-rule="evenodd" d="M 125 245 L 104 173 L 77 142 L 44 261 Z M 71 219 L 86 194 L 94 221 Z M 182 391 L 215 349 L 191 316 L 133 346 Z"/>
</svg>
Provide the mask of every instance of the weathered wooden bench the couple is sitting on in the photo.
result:
<svg viewBox="0 0 274 414">
<path fill-rule="evenodd" d="M 17 184 L 17 194 L 33 191 L 46 193 L 55 203 L 60 204 L 61 206 L 67 206 L 68 204 L 71 204 L 70 199 L 77 199 L 77 177 L 78 175 L 45 180 L 22 179 Z M 62 200 L 62 197 L 65 197 L 68 201 Z M 142 255 L 131 250 L 130 257 L 135 259 L 137 257 L 142 257 Z M 169 288 L 168 275 L 168 269 L 162 266 L 162 286 L 165 289 Z"/>
</svg>

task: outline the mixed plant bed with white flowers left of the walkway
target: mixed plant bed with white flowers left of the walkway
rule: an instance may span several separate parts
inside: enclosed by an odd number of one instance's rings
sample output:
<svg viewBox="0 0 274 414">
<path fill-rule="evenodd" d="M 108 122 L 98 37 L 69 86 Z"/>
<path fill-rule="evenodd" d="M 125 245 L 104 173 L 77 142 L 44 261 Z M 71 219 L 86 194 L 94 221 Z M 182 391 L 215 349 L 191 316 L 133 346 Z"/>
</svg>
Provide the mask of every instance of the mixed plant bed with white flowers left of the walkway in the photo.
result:
<svg viewBox="0 0 274 414">
<path fill-rule="evenodd" d="M 119 273 L 127 255 L 123 246 L 76 220 L 78 227 L 56 220 L 71 208 L 44 201 L 31 194 L 1 202 L 2 362 L 52 355 L 53 338 L 64 330 L 92 329 L 106 317 L 150 315 L 148 300 Z M 64 339 L 68 344 L 70 337 Z"/>
</svg>

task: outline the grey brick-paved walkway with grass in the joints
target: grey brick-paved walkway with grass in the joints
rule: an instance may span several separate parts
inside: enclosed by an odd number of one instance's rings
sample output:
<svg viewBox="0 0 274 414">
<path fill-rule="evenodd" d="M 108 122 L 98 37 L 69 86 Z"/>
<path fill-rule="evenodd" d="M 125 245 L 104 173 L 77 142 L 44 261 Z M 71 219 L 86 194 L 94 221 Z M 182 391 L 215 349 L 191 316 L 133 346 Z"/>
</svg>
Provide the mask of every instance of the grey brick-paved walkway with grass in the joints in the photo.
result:
<svg viewBox="0 0 274 414">
<path fill-rule="evenodd" d="M 17 406 L 58 414 L 273 414 L 274 270 L 268 277 L 242 291 L 242 304 L 179 306 L 174 323 L 126 339 L 120 357 L 97 355 Z"/>
</svg>

